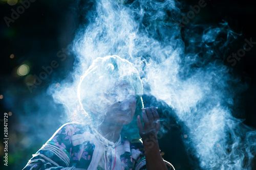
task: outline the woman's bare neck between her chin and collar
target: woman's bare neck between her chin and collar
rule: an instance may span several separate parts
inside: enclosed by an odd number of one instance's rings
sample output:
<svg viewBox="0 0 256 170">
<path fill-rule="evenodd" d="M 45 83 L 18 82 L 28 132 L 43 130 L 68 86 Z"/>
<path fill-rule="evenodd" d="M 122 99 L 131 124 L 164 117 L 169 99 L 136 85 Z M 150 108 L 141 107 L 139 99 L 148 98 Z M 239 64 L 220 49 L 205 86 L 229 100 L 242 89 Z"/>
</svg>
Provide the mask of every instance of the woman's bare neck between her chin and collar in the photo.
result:
<svg viewBox="0 0 256 170">
<path fill-rule="evenodd" d="M 119 138 L 123 126 L 114 125 L 111 123 L 105 123 L 103 122 L 98 127 L 95 127 L 95 129 L 106 139 L 108 139 L 111 142 L 116 142 Z"/>
</svg>

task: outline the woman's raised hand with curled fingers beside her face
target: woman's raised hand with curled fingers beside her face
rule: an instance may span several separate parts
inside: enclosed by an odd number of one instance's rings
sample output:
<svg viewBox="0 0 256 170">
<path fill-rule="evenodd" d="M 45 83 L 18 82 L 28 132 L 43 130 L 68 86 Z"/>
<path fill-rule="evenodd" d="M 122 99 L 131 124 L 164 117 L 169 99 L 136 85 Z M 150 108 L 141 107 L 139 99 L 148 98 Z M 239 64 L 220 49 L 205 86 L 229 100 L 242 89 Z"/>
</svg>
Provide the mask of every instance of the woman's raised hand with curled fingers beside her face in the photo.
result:
<svg viewBox="0 0 256 170">
<path fill-rule="evenodd" d="M 144 126 L 142 126 L 140 115 L 137 116 L 137 124 L 139 134 L 142 141 L 145 139 L 157 140 L 157 134 L 160 130 L 160 119 L 155 106 L 147 107 L 142 111 L 142 119 Z"/>
</svg>

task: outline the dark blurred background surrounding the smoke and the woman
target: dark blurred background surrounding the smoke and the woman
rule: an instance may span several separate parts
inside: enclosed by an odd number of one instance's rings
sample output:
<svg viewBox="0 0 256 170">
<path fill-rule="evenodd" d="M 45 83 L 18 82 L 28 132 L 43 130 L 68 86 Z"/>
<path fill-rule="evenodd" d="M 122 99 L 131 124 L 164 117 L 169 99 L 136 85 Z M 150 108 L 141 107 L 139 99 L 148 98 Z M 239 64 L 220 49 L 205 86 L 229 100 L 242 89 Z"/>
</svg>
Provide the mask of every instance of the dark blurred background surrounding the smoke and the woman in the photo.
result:
<svg viewBox="0 0 256 170">
<path fill-rule="evenodd" d="M 182 1 L 182 3 L 194 6 L 198 4 L 198 1 L 190 0 Z M 241 34 L 230 44 L 230 55 L 242 48 L 245 38 L 252 38 L 252 41 L 256 41 L 255 2 L 215 0 L 206 1 L 206 3 L 207 6 L 197 14 L 195 22 L 216 24 L 225 20 L 231 30 Z M 69 75 L 69 71 L 72 71 L 74 57 L 68 55 L 65 61 L 61 61 L 57 57 L 57 53 L 60 51 L 63 54 L 62 49 L 72 42 L 80 23 L 86 23 L 87 19 L 79 15 L 81 14 L 79 10 L 87 11 L 92 4 L 88 3 L 88 9 L 77 10 L 74 3 L 66 0 L 36 0 L 24 13 L 20 14 L 18 19 L 10 23 L 10 27 L 7 27 L 4 17 L 11 18 L 11 9 L 16 11 L 18 6 L 20 6 L 19 2 L 10 6 L 7 1 L 0 0 L 0 95 L 3 95 L 3 99 L 0 99 L 0 119 L 4 117 L 5 112 L 9 113 L 8 169 L 23 168 L 32 154 L 63 123 L 61 121 L 53 123 L 52 120 L 59 117 L 65 119 L 63 117 L 65 114 L 61 107 L 58 109 L 58 105 L 50 105 L 53 101 L 52 97 L 45 91 L 53 79 L 58 82 L 65 79 Z M 186 13 L 189 9 L 184 6 L 182 10 Z M 181 31 L 184 29 L 186 27 Z M 11 54 L 14 55 L 14 58 L 10 58 Z M 241 81 L 248 86 L 244 92 L 234 98 L 234 101 L 239 104 L 234 106 L 233 116 L 244 119 L 244 123 L 253 128 L 256 128 L 255 55 L 256 45 L 246 52 L 246 55 L 234 66 L 225 60 L 225 64 L 231 68 L 232 74 L 240 77 Z M 50 65 L 52 60 L 56 60 L 59 66 L 54 68 L 52 74 L 31 93 L 26 85 L 26 82 L 31 81 L 29 75 L 38 75 L 42 71 L 42 66 Z M 30 71 L 28 75 L 20 77 L 16 75 L 16 70 L 22 64 L 27 64 Z M 152 98 L 152 96 L 148 96 L 148 98 Z M 145 98 L 144 101 L 146 103 Z M 172 110 L 169 109 L 169 111 Z M 197 159 L 186 151 L 182 143 L 184 137 L 182 123 L 177 123 L 174 116 L 171 125 L 172 130 L 168 131 L 167 135 L 159 142 L 163 158 L 173 163 L 176 169 L 197 168 Z M 1 129 L 4 129 L 3 122 L 1 122 Z M 1 137 L 1 140 L 3 138 Z M 4 145 L 2 141 L 0 150 L 1 169 L 7 169 L 3 165 Z"/>
</svg>

